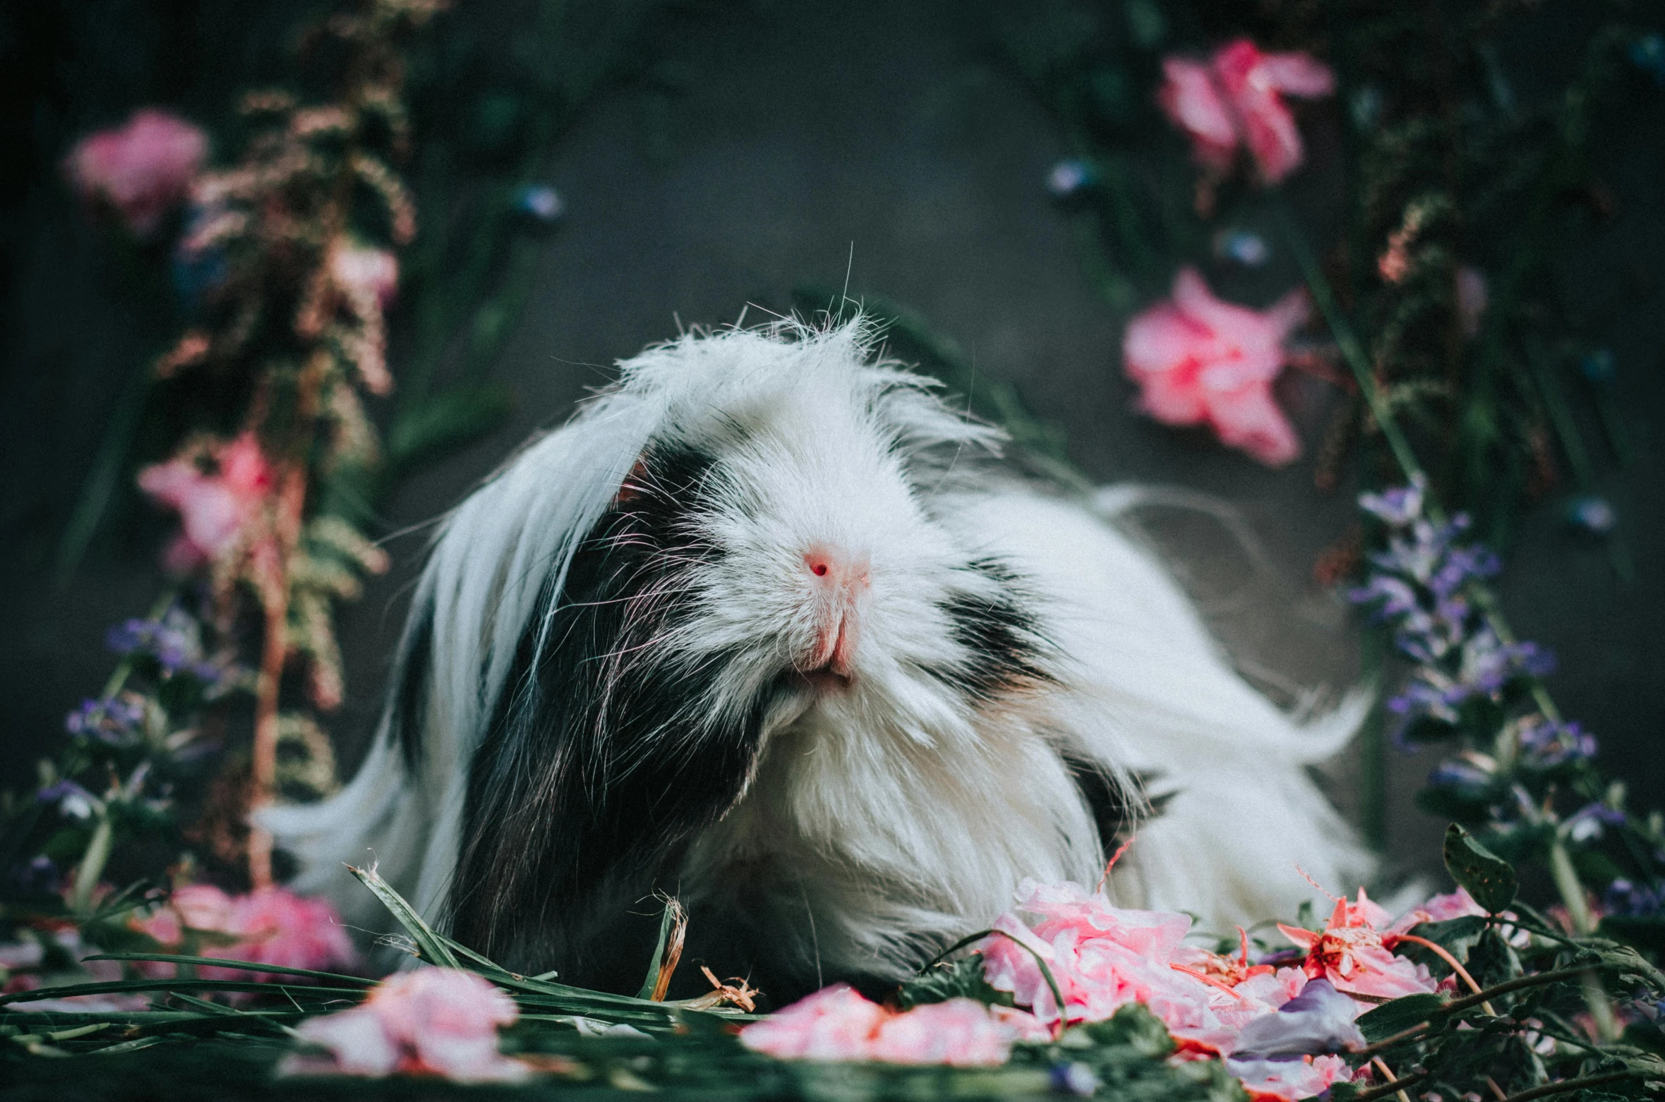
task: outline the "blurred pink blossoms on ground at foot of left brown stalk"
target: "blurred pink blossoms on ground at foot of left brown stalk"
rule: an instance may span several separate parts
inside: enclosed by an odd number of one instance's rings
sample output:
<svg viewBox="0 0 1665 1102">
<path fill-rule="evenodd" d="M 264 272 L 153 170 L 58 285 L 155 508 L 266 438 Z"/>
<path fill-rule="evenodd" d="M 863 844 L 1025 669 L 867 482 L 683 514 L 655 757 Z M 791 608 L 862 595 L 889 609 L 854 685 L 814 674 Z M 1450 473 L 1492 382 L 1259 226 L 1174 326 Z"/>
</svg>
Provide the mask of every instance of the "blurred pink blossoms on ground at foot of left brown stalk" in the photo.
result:
<svg viewBox="0 0 1665 1102">
<path fill-rule="evenodd" d="M 228 896 L 211 884 L 186 884 L 135 929 L 170 951 L 201 957 L 248 961 L 316 972 L 353 967 L 358 952 L 341 917 L 323 899 L 308 899 L 281 887 L 261 887 Z M 206 934 L 206 937 L 198 937 Z M 171 964 L 143 965 L 150 974 L 171 974 Z M 270 980 L 271 972 L 205 965 L 203 979 Z"/>
</svg>

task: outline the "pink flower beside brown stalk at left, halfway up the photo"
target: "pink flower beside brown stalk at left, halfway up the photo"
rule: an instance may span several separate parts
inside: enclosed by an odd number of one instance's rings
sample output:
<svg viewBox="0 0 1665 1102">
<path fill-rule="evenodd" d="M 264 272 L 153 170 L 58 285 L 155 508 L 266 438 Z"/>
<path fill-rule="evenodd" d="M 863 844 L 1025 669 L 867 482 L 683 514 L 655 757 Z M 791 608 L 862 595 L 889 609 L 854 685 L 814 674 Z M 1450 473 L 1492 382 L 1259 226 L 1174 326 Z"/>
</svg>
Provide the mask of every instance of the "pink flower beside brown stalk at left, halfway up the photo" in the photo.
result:
<svg viewBox="0 0 1665 1102">
<path fill-rule="evenodd" d="M 211 459 L 218 469 L 205 473 L 200 459 Z M 248 536 L 271 489 L 271 469 L 260 439 L 250 431 L 228 444 L 211 446 L 208 454 L 181 453 L 147 466 L 138 473 L 138 486 L 180 513 L 180 536 L 163 561 L 168 569 L 185 574 L 220 559 Z"/>
</svg>

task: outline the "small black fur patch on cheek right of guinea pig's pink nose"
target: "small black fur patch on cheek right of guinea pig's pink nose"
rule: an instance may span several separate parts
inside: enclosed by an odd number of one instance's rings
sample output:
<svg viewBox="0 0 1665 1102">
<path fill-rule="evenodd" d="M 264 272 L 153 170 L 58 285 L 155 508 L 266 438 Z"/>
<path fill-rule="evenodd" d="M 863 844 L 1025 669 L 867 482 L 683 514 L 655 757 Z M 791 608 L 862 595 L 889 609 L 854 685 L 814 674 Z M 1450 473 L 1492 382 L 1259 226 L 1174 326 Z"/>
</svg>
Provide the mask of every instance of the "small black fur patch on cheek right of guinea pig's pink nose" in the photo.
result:
<svg viewBox="0 0 1665 1102">
<path fill-rule="evenodd" d="M 937 603 L 952 623 L 951 634 L 969 658 L 926 669 L 952 689 L 979 701 L 1051 683 L 1042 666 L 1042 641 L 1034 613 L 1024 606 L 1019 576 L 999 559 L 976 559 L 971 569 L 999 584 L 996 596 L 956 591 Z"/>
</svg>

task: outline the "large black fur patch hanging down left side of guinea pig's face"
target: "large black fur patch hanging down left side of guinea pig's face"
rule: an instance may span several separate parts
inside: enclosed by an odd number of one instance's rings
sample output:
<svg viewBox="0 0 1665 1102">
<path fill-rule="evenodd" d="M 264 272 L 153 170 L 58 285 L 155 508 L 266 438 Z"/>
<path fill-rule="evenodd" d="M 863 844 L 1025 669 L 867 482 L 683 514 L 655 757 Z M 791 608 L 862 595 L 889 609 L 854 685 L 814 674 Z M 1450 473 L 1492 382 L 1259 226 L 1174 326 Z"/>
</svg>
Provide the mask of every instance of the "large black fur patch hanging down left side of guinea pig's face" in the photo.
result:
<svg viewBox="0 0 1665 1102">
<path fill-rule="evenodd" d="M 651 942 L 629 942 L 658 919 L 629 912 L 658 911 L 638 904 L 676 889 L 661 881 L 751 769 L 773 697 L 716 721 L 704 702 L 726 658 L 658 663 L 693 614 L 688 571 L 721 554 L 686 524 L 709 478 L 709 456 L 651 449 L 521 636 L 471 764 L 451 894 L 455 936 L 506 967 L 633 989 Z"/>
</svg>

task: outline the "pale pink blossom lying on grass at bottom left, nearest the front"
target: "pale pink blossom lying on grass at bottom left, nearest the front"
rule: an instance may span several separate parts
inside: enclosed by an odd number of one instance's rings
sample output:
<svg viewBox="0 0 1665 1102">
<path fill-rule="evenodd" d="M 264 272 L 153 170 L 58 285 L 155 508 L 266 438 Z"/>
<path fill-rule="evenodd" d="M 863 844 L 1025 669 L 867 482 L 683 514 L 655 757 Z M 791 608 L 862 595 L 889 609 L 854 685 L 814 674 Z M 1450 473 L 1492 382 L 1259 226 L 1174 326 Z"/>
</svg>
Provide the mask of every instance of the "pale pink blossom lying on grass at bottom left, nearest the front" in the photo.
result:
<svg viewBox="0 0 1665 1102">
<path fill-rule="evenodd" d="M 455 1082 L 519 1082 L 531 1070 L 498 1052 L 514 1002 L 473 972 L 420 967 L 371 989 L 351 1010 L 315 1017 L 301 1040 L 328 1055 L 291 1054 L 280 1075 L 430 1074 Z"/>
</svg>

